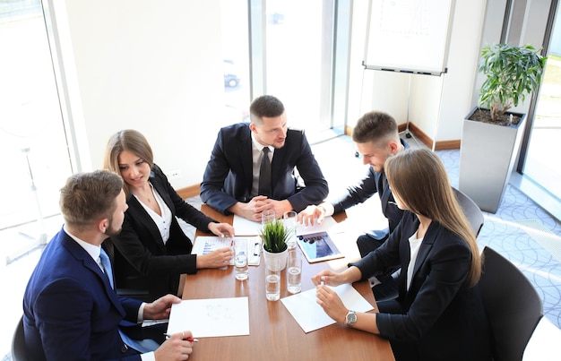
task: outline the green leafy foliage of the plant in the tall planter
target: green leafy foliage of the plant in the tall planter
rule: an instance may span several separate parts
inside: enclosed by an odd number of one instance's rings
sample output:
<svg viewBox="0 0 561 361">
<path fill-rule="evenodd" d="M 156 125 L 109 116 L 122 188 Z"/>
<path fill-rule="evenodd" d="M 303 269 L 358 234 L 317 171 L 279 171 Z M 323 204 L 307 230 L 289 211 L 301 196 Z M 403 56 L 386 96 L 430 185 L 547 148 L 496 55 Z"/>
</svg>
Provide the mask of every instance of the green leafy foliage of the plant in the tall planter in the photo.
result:
<svg viewBox="0 0 561 361">
<path fill-rule="evenodd" d="M 496 122 L 511 107 L 538 89 L 547 57 L 531 45 L 486 45 L 481 51 L 479 72 L 487 75 L 481 85 L 479 104 L 489 107 Z"/>
</svg>

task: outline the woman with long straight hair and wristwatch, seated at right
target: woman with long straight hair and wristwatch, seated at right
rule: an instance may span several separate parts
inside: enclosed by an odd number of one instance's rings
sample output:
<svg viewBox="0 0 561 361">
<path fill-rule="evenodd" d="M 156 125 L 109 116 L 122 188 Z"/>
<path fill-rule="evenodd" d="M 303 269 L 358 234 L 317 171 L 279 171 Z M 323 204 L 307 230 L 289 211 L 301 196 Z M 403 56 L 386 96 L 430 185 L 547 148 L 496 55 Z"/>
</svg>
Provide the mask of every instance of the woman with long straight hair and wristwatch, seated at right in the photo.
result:
<svg viewBox="0 0 561 361">
<path fill-rule="evenodd" d="M 490 360 L 481 257 L 442 161 L 431 150 L 403 150 L 384 169 L 403 218 L 384 245 L 349 269 L 314 276 L 317 303 L 333 320 L 389 339 L 398 360 Z M 367 279 L 395 266 L 401 266 L 399 297 L 378 303 L 378 314 L 350 311 L 321 285 Z"/>
</svg>

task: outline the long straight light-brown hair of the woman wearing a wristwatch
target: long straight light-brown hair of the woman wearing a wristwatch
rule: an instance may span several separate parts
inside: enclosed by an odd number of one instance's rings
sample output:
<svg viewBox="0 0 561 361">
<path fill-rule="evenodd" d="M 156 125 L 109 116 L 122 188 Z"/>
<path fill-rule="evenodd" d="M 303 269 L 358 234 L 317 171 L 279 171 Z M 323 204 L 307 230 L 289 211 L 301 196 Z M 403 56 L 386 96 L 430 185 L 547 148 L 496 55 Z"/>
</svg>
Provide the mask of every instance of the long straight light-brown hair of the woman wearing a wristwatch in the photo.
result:
<svg viewBox="0 0 561 361">
<path fill-rule="evenodd" d="M 407 149 L 386 159 L 384 169 L 392 192 L 410 211 L 435 220 L 470 247 L 468 279 L 471 286 L 475 285 L 482 261 L 477 240 L 453 193 L 442 160 L 431 150 Z"/>
</svg>

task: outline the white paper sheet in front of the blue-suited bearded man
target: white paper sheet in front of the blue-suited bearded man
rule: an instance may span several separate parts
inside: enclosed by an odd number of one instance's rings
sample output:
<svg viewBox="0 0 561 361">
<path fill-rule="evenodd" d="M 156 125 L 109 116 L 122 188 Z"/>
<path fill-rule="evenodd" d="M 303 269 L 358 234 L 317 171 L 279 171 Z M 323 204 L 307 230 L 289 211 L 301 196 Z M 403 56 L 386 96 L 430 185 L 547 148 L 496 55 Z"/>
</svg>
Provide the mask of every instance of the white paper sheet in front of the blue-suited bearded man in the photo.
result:
<svg viewBox="0 0 561 361">
<path fill-rule="evenodd" d="M 247 297 L 186 299 L 171 305 L 168 333 L 192 331 L 194 338 L 249 335 Z"/>
</svg>

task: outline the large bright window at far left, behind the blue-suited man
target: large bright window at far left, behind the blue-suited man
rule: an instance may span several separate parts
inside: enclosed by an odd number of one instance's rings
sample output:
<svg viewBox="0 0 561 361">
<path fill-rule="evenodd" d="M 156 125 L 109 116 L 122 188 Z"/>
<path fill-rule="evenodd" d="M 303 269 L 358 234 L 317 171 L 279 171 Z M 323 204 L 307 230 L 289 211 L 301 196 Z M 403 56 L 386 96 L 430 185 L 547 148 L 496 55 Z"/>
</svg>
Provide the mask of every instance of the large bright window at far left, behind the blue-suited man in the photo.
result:
<svg viewBox="0 0 561 361">
<path fill-rule="evenodd" d="M 0 229 L 32 225 L 32 244 L 72 173 L 39 0 L 0 1 L 0 48 Z"/>
</svg>

